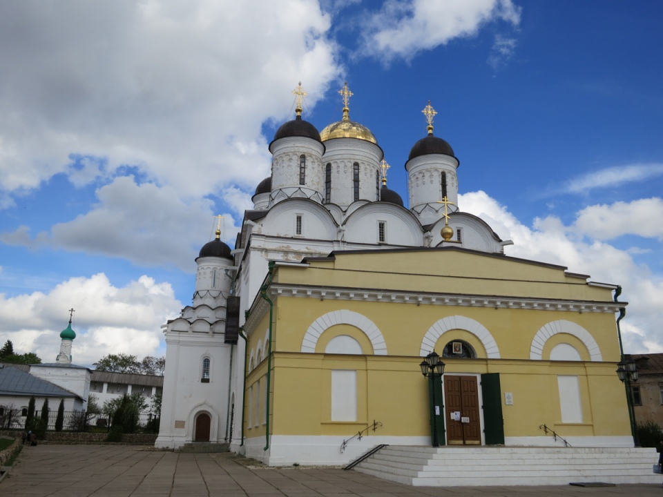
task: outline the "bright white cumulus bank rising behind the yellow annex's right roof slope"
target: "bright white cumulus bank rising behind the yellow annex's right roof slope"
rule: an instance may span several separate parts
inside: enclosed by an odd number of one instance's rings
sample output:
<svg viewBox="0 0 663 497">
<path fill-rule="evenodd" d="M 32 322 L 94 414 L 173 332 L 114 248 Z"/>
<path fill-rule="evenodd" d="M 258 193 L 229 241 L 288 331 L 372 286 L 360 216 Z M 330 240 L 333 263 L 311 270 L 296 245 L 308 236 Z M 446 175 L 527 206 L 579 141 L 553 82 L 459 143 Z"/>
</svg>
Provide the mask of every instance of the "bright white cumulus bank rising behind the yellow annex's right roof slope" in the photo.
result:
<svg viewBox="0 0 663 497">
<path fill-rule="evenodd" d="M 552 215 L 537 217 L 532 226 L 527 226 L 483 191 L 459 195 L 459 204 L 463 211 L 488 222 L 503 240 L 513 240 L 514 245 L 505 248 L 507 255 L 559 264 L 573 273 L 590 275 L 591 281 L 621 285 L 622 300 L 629 302 L 628 319 L 622 321 L 624 350 L 663 352 L 663 331 L 659 326 L 663 322 L 663 278 L 638 264 L 633 251 L 620 250 L 600 240 L 586 240 L 584 233 L 577 233 L 576 226 L 566 226 Z M 641 235 L 657 237 L 658 233 Z"/>
</svg>

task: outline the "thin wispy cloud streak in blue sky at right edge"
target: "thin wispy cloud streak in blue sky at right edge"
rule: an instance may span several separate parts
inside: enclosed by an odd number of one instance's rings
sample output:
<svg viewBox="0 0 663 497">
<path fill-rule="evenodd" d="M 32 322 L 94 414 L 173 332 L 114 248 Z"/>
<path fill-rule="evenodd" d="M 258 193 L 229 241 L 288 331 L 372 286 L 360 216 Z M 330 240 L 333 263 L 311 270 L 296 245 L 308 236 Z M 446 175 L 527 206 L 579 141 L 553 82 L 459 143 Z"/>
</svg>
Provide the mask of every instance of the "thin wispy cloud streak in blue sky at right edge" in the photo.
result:
<svg viewBox="0 0 663 497">
<path fill-rule="evenodd" d="M 572 178 L 564 184 L 564 193 L 586 193 L 594 188 L 608 188 L 642 182 L 663 175 L 663 164 L 628 164 L 615 166 Z"/>
</svg>

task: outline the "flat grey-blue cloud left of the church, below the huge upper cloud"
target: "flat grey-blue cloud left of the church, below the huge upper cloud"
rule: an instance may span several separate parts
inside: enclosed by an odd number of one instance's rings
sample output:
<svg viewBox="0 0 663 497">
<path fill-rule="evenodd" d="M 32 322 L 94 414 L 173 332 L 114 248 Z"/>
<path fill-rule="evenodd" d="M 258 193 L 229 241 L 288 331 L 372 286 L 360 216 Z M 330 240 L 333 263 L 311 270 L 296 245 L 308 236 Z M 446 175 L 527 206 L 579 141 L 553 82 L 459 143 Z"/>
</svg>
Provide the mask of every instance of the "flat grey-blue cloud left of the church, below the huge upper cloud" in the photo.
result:
<svg viewBox="0 0 663 497">
<path fill-rule="evenodd" d="M 133 176 L 117 177 L 97 190 L 99 202 L 74 220 L 55 224 L 50 232 L 30 237 L 27 226 L 0 233 L 6 244 L 56 247 L 122 257 L 141 266 L 177 266 L 193 271 L 193 260 L 208 240 L 213 202 L 183 200 L 172 186 L 137 184 Z M 224 240 L 234 240 L 238 226 L 224 214 Z"/>
</svg>

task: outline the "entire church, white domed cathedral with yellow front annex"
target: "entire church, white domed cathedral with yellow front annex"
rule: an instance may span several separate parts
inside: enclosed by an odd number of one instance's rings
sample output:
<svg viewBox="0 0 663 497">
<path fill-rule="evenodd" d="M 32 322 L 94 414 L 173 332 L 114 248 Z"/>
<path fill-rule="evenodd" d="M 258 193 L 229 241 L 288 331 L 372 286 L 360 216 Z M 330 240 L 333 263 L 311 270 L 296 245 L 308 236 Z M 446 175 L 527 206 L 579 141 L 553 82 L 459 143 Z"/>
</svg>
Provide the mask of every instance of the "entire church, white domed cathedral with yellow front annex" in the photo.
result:
<svg viewBox="0 0 663 497">
<path fill-rule="evenodd" d="M 193 304 L 166 324 L 157 447 L 227 442 L 270 465 L 340 464 L 374 445 L 632 447 L 615 285 L 504 254 L 459 210 L 459 159 L 433 133 L 386 186 L 376 137 L 301 117 L 271 142 L 231 250 L 206 244 Z M 234 320 L 241 326 L 233 333 Z M 444 375 L 429 391 L 419 362 Z M 430 393 L 436 399 L 431 402 Z"/>
</svg>

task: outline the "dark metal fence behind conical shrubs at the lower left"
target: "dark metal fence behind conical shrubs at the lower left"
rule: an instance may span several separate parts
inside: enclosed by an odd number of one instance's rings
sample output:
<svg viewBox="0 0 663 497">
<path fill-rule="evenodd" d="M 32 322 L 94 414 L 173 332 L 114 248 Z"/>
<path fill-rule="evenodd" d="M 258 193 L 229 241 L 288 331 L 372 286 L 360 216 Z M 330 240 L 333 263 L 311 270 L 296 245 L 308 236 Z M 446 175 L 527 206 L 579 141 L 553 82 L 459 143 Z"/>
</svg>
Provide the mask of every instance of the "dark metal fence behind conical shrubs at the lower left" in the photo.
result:
<svg viewBox="0 0 663 497">
<path fill-rule="evenodd" d="M 153 413 L 140 413 L 131 415 L 131 425 L 136 427 L 136 431 L 145 431 L 153 428 L 155 416 Z M 4 409 L 0 416 L 0 429 L 25 429 L 27 416 L 21 416 L 20 409 Z M 35 413 L 35 418 L 41 418 L 41 413 Z M 55 431 L 55 420 L 57 411 L 48 413 L 48 423 L 46 430 Z M 62 431 L 99 431 L 100 429 L 111 428 L 111 418 L 108 414 L 86 413 L 86 411 L 65 411 L 62 422 Z"/>
</svg>

